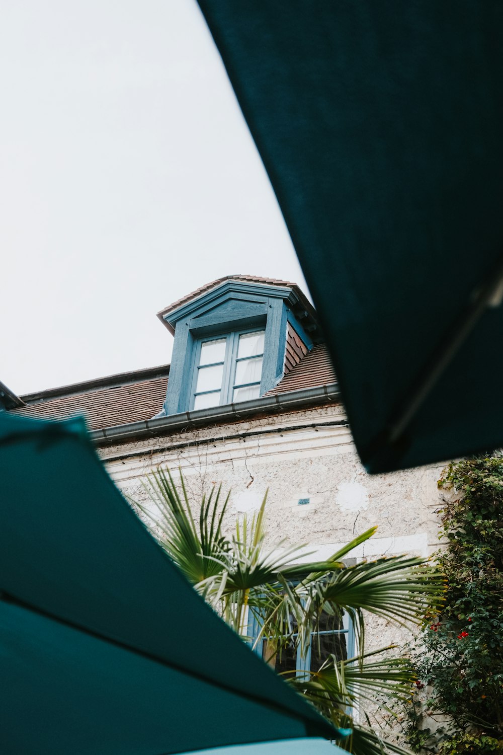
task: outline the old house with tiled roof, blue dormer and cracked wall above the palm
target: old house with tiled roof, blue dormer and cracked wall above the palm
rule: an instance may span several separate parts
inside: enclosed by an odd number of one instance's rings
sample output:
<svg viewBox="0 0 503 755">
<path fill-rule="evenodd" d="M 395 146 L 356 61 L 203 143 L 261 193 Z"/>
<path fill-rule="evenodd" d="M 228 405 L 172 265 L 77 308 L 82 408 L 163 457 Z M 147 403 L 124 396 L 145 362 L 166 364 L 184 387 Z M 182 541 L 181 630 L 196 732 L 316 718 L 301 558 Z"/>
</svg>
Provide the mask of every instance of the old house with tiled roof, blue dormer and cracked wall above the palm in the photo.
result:
<svg viewBox="0 0 503 755">
<path fill-rule="evenodd" d="M 229 525 L 268 490 L 271 542 L 308 544 L 311 558 L 373 525 L 376 536 L 352 556 L 437 547 L 442 467 L 363 470 L 316 312 L 298 286 L 227 276 L 158 316 L 174 337 L 170 365 L 15 397 L 8 411 L 84 414 L 110 475 L 136 500 L 158 465 L 180 467 L 196 500 L 215 483 L 231 489 Z M 372 619 L 367 636 L 382 647 L 401 635 Z"/>
</svg>

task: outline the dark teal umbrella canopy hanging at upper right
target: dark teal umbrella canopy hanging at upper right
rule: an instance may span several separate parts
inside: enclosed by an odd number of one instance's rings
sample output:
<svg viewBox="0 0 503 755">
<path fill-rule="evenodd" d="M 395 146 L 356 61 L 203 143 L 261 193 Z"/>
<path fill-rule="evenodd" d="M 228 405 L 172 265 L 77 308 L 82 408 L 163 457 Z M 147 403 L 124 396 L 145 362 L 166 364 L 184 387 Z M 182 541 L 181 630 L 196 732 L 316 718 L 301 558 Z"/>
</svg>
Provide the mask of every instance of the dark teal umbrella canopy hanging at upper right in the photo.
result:
<svg viewBox="0 0 503 755">
<path fill-rule="evenodd" d="M 367 469 L 502 445 L 503 4 L 199 5 Z"/>
</svg>

